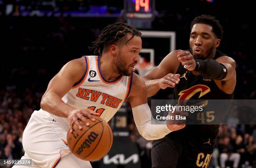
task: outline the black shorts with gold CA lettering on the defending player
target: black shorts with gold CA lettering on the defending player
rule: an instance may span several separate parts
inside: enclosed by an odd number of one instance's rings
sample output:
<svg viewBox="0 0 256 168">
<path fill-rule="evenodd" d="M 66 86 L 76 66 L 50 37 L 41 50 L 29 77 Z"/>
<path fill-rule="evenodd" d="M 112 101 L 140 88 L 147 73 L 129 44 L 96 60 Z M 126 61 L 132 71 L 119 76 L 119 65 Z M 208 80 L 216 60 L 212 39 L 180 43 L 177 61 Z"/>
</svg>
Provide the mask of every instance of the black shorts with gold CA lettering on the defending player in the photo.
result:
<svg viewBox="0 0 256 168">
<path fill-rule="evenodd" d="M 207 168 L 215 138 L 169 137 L 153 141 L 152 168 Z"/>
</svg>

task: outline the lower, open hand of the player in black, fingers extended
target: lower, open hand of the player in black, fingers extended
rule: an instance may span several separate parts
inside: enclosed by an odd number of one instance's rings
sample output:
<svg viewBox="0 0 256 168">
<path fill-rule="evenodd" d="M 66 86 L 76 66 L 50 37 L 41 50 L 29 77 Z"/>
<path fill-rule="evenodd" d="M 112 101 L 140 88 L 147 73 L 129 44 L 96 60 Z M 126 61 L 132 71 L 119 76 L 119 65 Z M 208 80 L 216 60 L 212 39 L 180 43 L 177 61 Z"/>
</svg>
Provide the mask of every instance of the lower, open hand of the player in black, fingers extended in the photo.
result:
<svg viewBox="0 0 256 168">
<path fill-rule="evenodd" d="M 167 87 L 175 87 L 175 85 L 179 83 L 179 76 L 180 74 L 167 74 L 158 81 L 158 85 L 161 89 L 166 89 Z"/>
</svg>

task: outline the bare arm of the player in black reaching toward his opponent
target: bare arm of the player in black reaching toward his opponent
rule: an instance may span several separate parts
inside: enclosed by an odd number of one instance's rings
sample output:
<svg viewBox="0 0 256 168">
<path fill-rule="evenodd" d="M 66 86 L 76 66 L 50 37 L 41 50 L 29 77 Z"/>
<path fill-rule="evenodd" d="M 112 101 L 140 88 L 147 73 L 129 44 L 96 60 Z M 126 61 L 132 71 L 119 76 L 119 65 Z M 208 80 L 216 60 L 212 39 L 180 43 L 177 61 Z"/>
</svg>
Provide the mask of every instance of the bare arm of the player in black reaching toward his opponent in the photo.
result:
<svg viewBox="0 0 256 168">
<path fill-rule="evenodd" d="M 146 83 L 148 97 L 154 96 L 160 89 L 175 87 L 179 83 L 179 74 L 175 74 L 179 61 L 177 53 L 179 50 L 169 53 L 156 68 L 149 71 L 143 80 Z M 175 75 L 174 75 L 175 74 Z"/>
</svg>

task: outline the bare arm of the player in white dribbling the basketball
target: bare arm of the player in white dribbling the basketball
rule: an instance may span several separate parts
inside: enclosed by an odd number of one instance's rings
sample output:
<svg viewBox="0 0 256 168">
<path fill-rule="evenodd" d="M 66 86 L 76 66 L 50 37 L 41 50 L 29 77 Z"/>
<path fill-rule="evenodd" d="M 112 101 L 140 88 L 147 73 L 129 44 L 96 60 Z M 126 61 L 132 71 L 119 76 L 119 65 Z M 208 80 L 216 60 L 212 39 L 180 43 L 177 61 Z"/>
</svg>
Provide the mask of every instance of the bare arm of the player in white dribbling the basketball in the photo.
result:
<svg viewBox="0 0 256 168">
<path fill-rule="evenodd" d="M 75 109 L 64 103 L 61 98 L 69 92 L 74 83 L 82 78 L 85 69 L 84 58 L 69 61 L 62 67 L 59 73 L 51 79 L 40 104 L 42 109 L 53 115 L 67 117 L 69 119 L 69 126 L 74 122 L 81 129 L 82 127 L 78 122 L 78 118 L 82 120 L 84 124 L 89 125 L 89 122 L 87 122 L 84 116 L 94 120 L 92 115 L 98 114 L 90 109 Z"/>
</svg>

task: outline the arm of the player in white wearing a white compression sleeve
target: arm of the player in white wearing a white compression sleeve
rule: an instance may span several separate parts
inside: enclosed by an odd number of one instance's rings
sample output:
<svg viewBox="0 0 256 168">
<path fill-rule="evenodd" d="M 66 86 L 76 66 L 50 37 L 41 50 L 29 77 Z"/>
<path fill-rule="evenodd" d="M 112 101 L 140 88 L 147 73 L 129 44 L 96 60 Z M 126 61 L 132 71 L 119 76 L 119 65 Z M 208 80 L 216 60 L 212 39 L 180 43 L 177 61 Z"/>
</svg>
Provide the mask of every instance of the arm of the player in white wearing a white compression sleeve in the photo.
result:
<svg viewBox="0 0 256 168">
<path fill-rule="evenodd" d="M 160 139 L 172 131 L 185 127 L 185 125 L 166 125 L 166 122 L 161 122 L 159 125 L 151 125 L 152 115 L 147 103 L 146 85 L 137 74 L 133 75 L 133 83 L 128 100 L 131 103 L 133 118 L 138 132 L 146 140 Z"/>
</svg>

